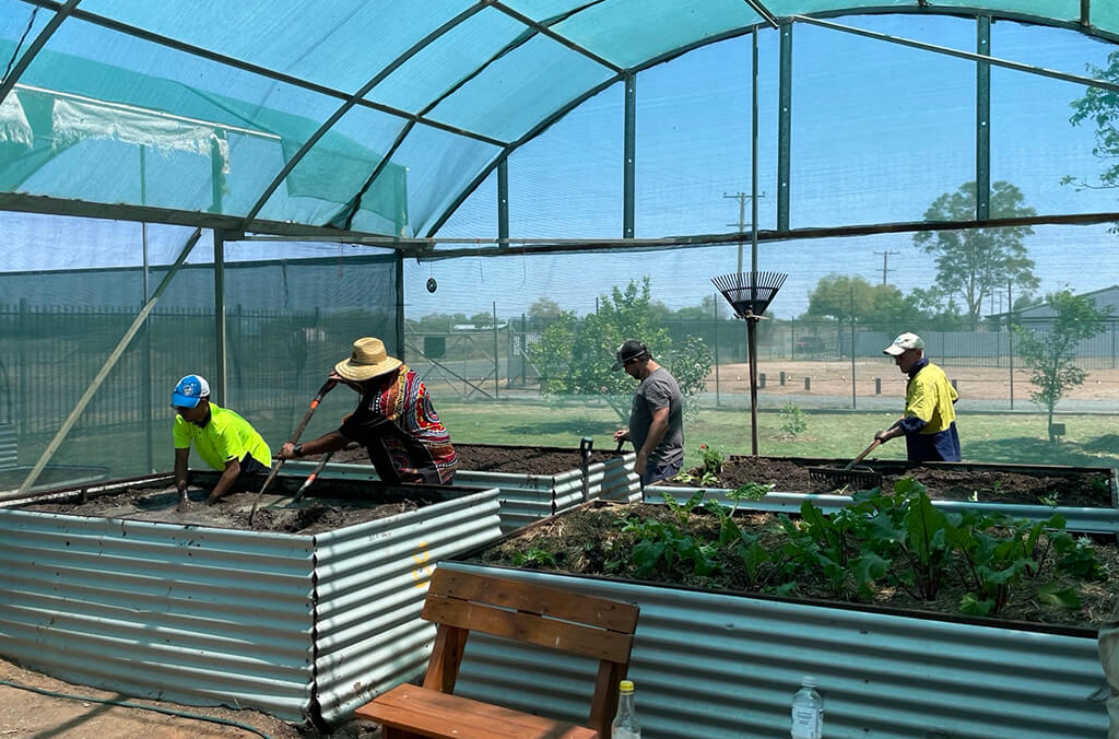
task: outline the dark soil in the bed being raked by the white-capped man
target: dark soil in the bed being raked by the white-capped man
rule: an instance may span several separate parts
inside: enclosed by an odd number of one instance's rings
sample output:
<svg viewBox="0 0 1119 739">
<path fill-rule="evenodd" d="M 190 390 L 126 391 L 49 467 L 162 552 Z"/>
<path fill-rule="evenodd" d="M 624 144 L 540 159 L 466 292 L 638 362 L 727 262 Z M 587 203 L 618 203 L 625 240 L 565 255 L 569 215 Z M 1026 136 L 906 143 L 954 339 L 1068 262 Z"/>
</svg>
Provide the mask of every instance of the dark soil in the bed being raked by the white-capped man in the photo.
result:
<svg viewBox="0 0 1119 739">
<path fill-rule="evenodd" d="M 733 489 L 746 483 L 763 483 L 773 484 L 774 489 L 782 493 L 828 493 L 836 488 L 812 480 L 808 468 L 833 466 L 815 462 L 798 464 L 790 459 L 772 457 L 732 456 L 723 462 L 718 485 L 712 487 Z M 836 466 L 836 469 L 841 468 L 843 465 Z M 698 480 L 703 470 L 693 468 L 688 473 Z M 1049 501 L 1062 506 L 1111 506 L 1110 481 L 1099 473 L 1046 474 L 1038 470 L 1037 475 L 1028 475 L 1009 470 L 966 467 L 946 469 L 919 465 L 906 469 L 904 474 L 884 473 L 882 485 L 892 489 L 897 479 L 906 476 L 912 476 L 928 487 L 929 497 L 934 501 L 970 501 L 974 496 L 979 503 L 1042 505 Z M 704 487 L 698 481 L 666 480 L 658 485 Z"/>
</svg>

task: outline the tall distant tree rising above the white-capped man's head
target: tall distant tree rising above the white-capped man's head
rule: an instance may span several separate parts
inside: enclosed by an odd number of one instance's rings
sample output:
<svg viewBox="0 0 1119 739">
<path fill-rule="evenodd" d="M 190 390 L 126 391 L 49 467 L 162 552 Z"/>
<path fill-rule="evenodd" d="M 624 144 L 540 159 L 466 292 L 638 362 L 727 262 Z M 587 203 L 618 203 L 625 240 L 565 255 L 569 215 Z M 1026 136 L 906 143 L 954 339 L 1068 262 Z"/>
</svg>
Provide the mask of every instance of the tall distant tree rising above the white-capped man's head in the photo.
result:
<svg viewBox="0 0 1119 739">
<path fill-rule="evenodd" d="M 956 193 L 944 193 L 924 212 L 925 221 L 971 221 L 976 214 L 976 184 L 965 183 Z M 1009 218 L 1035 215 L 1014 185 L 997 181 L 990 191 L 991 217 Z M 950 296 L 958 296 L 967 308 L 971 328 L 979 325 L 984 298 L 1013 283 L 1022 290 L 1036 288 L 1033 260 L 1022 240 L 1033 233 L 1029 226 L 921 231 L 913 243 L 937 258 L 937 283 Z"/>
</svg>

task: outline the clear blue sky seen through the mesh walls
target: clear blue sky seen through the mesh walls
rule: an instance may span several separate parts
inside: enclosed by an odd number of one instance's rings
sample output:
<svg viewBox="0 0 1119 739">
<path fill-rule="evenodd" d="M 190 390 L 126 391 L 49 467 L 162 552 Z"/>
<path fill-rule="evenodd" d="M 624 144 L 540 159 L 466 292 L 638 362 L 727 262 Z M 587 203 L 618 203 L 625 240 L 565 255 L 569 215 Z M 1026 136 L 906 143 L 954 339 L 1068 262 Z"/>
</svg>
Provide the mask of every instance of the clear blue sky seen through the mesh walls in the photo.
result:
<svg viewBox="0 0 1119 739">
<path fill-rule="evenodd" d="M 958 18 L 875 16 L 840 22 L 972 50 L 974 22 Z M 759 224 L 775 225 L 777 34 L 759 35 Z M 995 56 L 1085 74 L 1113 47 L 1080 34 L 1008 21 L 993 29 Z M 797 26 L 793 36 L 792 225 L 852 225 L 920 219 L 931 200 L 974 178 L 975 66 L 927 52 Z M 1063 175 L 1091 178 L 1092 129 L 1069 123 L 1081 86 L 1019 72 L 993 74 L 993 179 L 1006 179 L 1038 213 L 1119 209 L 1111 191 L 1061 186 Z M 637 235 L 731 231 L 750 191 L 750 38 L 698 49 L 638 77 Z M 621 235 L 622 91 L 614 86 L 510 157 L 510 233 L 521 238 Z M 441 235 L 496 235 L 490 177 Z M 747 211 L 749 219 L 749 211 Z M 138 224 L 4 214 L 0 270 L 74 269 L 139 263 Z M 151 261 L 173 259 L 186 230 L 149 230 Z M 1090 291 L 1119 280 L 1119 237 L 1100 226 L 1045 226 L 1027 238 L 1042 291 Z M 200 251 L 192 262 L 205 261 Z M 327 244 L 284 247 L 297 255 L 357 251 Z M 649 275 L 670 308 L 698 305 L 711 278 L 734 272 L 735 245 L 614 254 L 462 258 L 405 268 L 406 311 L 488 311 L 516 316 L 546 296 L 586 312 L 598 294 Z M 903 290 L 928 287 L 932 259 L 908 235 L 763 243 L 762 270 L 789 273 L 771 310 L 791 317 L 816 282 L 834 272 L 887 279 Z M 231 245 L 228 259 L 275 256 L 274 245 Z M 749 268 L 750 246 L 744 250 Z M 440 289 L 423 284 L 435 277 Z M 998 298 L 991 306 L 999 309 Z"/>
</svg>

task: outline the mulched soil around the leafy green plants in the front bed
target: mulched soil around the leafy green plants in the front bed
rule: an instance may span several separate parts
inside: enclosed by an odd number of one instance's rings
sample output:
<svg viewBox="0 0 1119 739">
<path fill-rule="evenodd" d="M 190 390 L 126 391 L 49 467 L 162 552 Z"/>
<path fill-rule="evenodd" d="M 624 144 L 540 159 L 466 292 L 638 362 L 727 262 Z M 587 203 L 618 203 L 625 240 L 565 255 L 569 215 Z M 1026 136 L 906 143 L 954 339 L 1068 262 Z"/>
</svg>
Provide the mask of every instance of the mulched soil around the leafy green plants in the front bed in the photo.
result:
<svg viewBox="0 0 1119 739">
<path fill-rule="evenodd" d="M 791 517 L 798 518 L 798 516 Z M 687 522 L 681 524 L 678 516 L 664 505 L 599 502 L 527 526 L 472 559 L 485 564 L 521 569 L 553 570 L 716 591 L 768 593 L 787 598 L 961 616 L 959 604 L 967 592 L 961 583 L 946 584 L 932 600 L 914 597 L 903 587 L 882 582 L 873 588 L 871 596 L 861 596 L 849 581 L 845 587 L 836 588 L 820 573 L 798 571 L 796 587 L 779 591 L 759 584 L 747 574 L 744 559 L 733 553 L 722 558 L 725 563 L 723 570 L 706 576 L 695 574 L 690 563 L 685 560 L 678 561 L 671 569 L 659 567 L 651 573 L 638 576 L 633 552 L 641 541 L 641 535 L 633 531 L 623 531 L 627 520 L 665 522 L 676 526 L 681 536 L 692 537 L 705 546 L 716 546 L 718 542 L 720 522 L 702 508 L 688 515 Z M 751 512 L 735 515 L 735 521 L 742 531 L 758 534 L 759 543 L 769 552 L 780 552 L 788 541 L 774 514 Z M 1096 559 L 1104 571 L 1119 572 L 1119 546 L 1116 545 L 1115 537 L 1092 536 L 1091 540 Z M 1052 554 L 1050 556 L 1052 558 Z M 1070 609 L 1046 605 L 1037 595 L 1038 589 L 1046 583 L 1060 589 L 1074 588 L 1080 607 Z M 1054 576 L 1053 562 L 1050 559 L 1042 570 L 1042 576 L 1036 579 L 1027 578 L 1017 586 L 1012 591 L 1007 605 L 994 617 L 1098 628 L 1110 625 L 1117 618 L 1119 614 L 1117 606 L 1119 606 L 1119 580 L 1109 577 L 1103 581 L 1082 581 L 1068 574 Z"/>
</svg>

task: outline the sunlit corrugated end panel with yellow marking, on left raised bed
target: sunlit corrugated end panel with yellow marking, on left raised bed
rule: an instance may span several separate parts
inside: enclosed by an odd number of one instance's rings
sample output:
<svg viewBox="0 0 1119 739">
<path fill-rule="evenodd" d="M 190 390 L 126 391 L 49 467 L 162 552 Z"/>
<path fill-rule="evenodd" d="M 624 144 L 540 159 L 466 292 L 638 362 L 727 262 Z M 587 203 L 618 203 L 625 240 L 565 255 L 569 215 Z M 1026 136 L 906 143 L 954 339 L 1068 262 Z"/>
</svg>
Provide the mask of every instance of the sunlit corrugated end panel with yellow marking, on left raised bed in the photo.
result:
<svg viewBox="0 0 1119 739">
<path fill-rule="evenodd" d="M 316 700 L 328 722 L 423 672 L 435 562 L 501 534 L 497 488 L 316 537 Z"/>
</svg>

